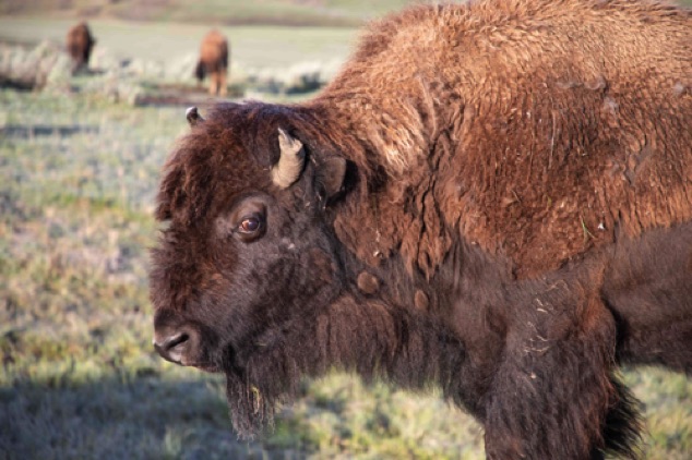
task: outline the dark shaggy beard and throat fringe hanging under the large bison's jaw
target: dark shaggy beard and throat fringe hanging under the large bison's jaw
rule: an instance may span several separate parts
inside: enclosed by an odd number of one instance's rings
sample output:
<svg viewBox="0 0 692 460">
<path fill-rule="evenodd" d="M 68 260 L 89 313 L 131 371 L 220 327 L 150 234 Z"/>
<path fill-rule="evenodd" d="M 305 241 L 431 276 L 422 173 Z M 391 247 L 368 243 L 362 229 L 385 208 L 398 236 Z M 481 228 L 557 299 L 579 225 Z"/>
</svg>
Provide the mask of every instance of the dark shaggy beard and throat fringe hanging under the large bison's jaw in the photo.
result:
<svg viewBox="0 0 692 460">
<path fill-rule="evenodd" d="M 261 339 L 260 349 L 242 350 L 247 356 L 226 349 L 220 367 L 240 436 L 252 437 L 271 425 L 276 404 L 296 396 L 302 377 L 318 377 L 333 367 L 409 389 L 439 386 L 458 404 L 470 399 L 473 389 L 466 386 L 475 376 L 463 343 L 442 325 L 383 304 L 350 300 L 309 322 L 314 328 L 289 327 L 271 343 Z"/>
</svg>

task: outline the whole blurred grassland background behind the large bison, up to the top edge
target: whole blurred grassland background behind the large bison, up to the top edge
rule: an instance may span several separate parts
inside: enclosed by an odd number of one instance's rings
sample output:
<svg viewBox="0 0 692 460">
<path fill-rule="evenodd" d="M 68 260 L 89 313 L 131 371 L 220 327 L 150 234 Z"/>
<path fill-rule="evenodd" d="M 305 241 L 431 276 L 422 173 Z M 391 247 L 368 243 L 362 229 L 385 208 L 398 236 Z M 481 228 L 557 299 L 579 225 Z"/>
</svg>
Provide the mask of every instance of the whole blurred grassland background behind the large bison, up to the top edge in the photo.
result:
<svg viewBox="0 0 692 460">
<path fill-rule="evenodd" d="M 484 458 L 480 426 L 439 395 L 344 374 L 306 382 L 273 429 L 240 441 L 223 378 L 151 346 L 153 198 L 186 107 L 309 98 L 359 27 L 408 3 L 0 0 L 0 459 Z M 95 44 L 80 62 L 67 35 L 81 21 Z M 194 77 L 211 29 L 228 45 L 218 95 L 208 71 Z M 644 457 L 691 459 L 692 380 L 623 379 Z"/>
</svg>

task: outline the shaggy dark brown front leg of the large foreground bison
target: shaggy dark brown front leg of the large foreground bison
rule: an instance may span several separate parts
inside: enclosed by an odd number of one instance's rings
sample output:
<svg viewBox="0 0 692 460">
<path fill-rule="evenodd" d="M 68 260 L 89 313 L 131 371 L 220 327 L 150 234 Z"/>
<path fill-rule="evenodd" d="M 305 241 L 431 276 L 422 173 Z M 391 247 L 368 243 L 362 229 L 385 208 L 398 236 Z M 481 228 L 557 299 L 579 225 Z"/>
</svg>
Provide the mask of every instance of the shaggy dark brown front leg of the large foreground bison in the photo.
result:
<svg viewBox="0 0 692 460">
<path fill-rule="evenodd" d="M 596 300 L 576 315 L 556 311 L 533 308 L 508 335 L 486 404 L 488 458 L 635 457 L 633 399 L 613 376 L 613 318 Z"/>
</svg>

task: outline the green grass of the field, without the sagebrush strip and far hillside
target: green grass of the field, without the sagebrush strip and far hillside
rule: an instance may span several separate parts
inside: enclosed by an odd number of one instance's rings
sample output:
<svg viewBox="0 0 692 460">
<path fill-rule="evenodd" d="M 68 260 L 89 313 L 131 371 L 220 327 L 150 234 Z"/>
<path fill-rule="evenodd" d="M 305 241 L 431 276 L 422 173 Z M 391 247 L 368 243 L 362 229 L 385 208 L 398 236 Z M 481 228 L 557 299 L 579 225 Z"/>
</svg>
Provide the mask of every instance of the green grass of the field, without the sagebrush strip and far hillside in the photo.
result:
<svg viewBox="0 0 692 460">
<path fill-rule="evenodd" d="M 67 24 L 22 21 L 0 19 L 0 36 L 61 36 Z M 100 46 L 119 43 L 143 59 L 153 43 L 157 59 L 184 44 L 194 50 L 204 29 L 96 24 Z M 244 44 L 238 59 L 258 65 L 343 59 L 355 36 L 240 29 L 228 29 Z M 300 45 L 288 52 L 290 40 Z M 159 168 L 188 129 L 183 112 L 0 90 L 0 459 L 484 458 L 479 425 L 437 395 L 366 387 L 343 374 L 306 382 L 272 432 L 238 441 L 223 380 L 157 358 L 151 214 Z M 689 460 L 692 380 L 658 368 L 624 379 L 646 414 L 645 458 Z"/>
</svg>

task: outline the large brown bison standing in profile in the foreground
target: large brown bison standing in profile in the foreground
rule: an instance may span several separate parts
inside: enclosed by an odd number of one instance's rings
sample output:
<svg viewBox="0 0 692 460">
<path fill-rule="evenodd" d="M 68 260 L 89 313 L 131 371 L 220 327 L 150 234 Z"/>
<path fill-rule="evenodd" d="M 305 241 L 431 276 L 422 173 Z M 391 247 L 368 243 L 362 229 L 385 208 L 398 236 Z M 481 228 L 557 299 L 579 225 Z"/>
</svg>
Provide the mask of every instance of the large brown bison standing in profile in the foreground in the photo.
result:
<svg viewBox="0 0 692 460">
<path fill-rule="evenodd" d="M 371 26 L 168 159 L 155 347 L 251 435 L 301 376 L 439 386 L 491 459 L 635 456 L 619 364 L 692 372 L 692 13 L 487 0 Z"/>
</svg>

